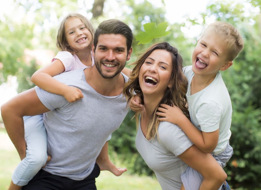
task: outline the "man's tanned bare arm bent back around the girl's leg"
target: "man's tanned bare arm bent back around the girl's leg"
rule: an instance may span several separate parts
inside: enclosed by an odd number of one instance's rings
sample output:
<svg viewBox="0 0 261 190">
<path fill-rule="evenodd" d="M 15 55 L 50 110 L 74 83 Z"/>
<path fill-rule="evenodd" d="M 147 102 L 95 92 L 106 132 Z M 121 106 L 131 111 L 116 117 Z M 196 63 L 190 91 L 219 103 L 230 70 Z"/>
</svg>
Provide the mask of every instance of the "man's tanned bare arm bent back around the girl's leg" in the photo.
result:
<svg viewBox="0 0 261 190">
<path fill-rule="evenodd" d="M 25 158 L 26 142 L 23 116 L 34 116 L 50 111 L 39 100 L 35 88 L 19 93 L 1 106 L 5 129 L 18 151 Z"/>
</svg>

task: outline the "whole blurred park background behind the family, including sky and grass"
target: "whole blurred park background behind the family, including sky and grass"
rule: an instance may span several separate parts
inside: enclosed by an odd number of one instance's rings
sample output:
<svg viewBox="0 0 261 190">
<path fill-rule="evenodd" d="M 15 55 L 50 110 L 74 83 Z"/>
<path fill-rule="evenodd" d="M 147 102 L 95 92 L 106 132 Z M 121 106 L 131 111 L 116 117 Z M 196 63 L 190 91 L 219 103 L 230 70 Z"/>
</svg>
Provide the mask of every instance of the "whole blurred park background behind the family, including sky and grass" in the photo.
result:
<svg viewBox="0 0 261 190">
<path fill-rule="evenodd" d="M 189 65 L 203 29 L 213 21 L 226 21 L 239 29 L 245 43 L 233 66 L 222 72 L 233 106 L 230 144 L 234 155 L 225 167 L 227 181 L 233 189 L 261 189 L 260 6 L 261 0 L 0 0 L 0 106 L 34 87 L 31 75 L 58 52 L 58 27 L 70 12 L 86 16 L 94 28 L 110 18 L 126 22 L 134 33 L 134 52 L 127 64 L 151 43 L 167 41 L 178 48 L 183 65 Z M 137 45 L 135 36 L 148 22 L 168 22 L 170 34 Z M 160 189 L 135 148 L 132 116 L 130 112 L 109 141 L 111 160 L 128 172 L 120 177 L 102 172 L 99 189 Z M 1 120 L 0 189 L 6 189 L 19 157 Z"/>
</svg>

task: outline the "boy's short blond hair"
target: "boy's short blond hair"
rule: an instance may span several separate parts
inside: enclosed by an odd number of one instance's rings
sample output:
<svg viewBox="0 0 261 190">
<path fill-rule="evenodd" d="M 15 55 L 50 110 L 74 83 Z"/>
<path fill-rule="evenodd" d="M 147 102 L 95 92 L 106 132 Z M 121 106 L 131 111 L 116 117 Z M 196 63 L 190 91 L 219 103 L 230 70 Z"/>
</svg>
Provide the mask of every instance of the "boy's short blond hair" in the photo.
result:
<svg viewBox="0 0 261 190">
<path fill-rule="evenodd" d="M 244 41 L 239 31 L 227 22 L 216 21 L 211 23 L 202 33 L 218 35 L 224 43 L 227 44 L 227 61 L 233 61 L 236 56 L 242 51 Z"/>
</svg>

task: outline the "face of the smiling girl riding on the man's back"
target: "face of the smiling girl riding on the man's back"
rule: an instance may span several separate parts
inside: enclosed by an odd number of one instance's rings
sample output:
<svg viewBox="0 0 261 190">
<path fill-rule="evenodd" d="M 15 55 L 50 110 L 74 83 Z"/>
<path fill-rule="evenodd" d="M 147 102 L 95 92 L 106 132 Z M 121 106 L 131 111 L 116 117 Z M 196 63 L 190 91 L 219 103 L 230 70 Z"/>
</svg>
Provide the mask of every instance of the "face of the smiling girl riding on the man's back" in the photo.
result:
<svg viewBox="0 0 261 190">
<path fill-rule="evenodd" d="M 64 32 L 69 46 L 75 51 L 84 51 L 91 47 L 91 32 L 79 18 L 68 18 L 64 24 Z"/>
</svg>

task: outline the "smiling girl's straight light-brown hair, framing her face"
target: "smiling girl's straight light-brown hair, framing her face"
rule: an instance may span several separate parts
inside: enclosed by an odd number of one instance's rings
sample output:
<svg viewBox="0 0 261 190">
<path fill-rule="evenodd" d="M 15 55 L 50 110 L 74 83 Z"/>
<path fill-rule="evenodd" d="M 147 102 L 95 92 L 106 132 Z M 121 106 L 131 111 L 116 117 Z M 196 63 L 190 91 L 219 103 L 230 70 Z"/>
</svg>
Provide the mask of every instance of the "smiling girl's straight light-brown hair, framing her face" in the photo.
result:
<svg viewBox="0 0 261 190">
<path fill-rule="evenodd" d="M 66 17 L 64 17 L 58 29 L 56 46 L 60 51 L 68 51 L 72 54 L 76 53 L 76 51 L 69 46 L 65 36 L 65 26 L 64 26 L 65 22 L 67 21 L 68 18 L 72 18 L 72 17 L 79 18 L 82 21 L 82 23 L 85 25 L 85 27 L 91 32 L 92 42 L 90 43 L 90 47 L 89 47 L 91 49 L 91 45 L 93 43 L 93 37 L 94 37 L 94 28 L 91 22 L 85 16 L 78 13 L 70 13 Z"/>
</svg>

